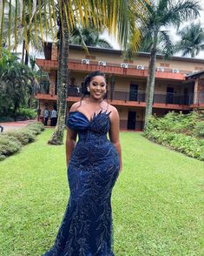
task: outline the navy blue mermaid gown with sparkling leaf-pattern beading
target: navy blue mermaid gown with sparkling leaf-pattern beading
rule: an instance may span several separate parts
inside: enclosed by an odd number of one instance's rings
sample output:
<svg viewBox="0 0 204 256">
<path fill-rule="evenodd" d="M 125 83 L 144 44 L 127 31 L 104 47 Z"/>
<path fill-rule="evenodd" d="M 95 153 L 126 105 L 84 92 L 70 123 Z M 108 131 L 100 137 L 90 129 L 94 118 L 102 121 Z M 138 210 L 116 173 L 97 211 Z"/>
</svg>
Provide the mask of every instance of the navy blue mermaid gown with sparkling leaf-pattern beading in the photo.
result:
<svg viewBox="0 0 204 256">
<path fill-rule="evenodd" d="M 107 111 L 90 121 L 80 111 L 69 113 L 67 125 L 79 136 L 69 159 L 69 203 L 44 256 L 114 256 L 111 193 L 120 163 L 107 138 L 109 121 Z"/>
</svg>

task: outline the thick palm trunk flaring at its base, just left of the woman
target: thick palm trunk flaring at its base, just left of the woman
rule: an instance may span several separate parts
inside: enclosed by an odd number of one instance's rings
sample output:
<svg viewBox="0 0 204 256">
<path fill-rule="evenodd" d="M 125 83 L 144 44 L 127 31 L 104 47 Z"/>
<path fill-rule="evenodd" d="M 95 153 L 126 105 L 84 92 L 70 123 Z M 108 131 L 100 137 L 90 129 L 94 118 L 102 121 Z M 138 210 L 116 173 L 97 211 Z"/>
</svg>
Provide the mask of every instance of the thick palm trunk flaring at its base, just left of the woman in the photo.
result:
<svg viewBox="0 0 204 256">
<path fill-rule="evenodd" d="M 63 33 L 61 30 L 58 70 L 57 70 L 57 124 L 48 143 L 51 145 L 63 144 L 63 131 L 67 112 L 67 85 L 69 81 L 69 30 L 66 24 L 66 17 L 63 14 Z"/>
</svg>

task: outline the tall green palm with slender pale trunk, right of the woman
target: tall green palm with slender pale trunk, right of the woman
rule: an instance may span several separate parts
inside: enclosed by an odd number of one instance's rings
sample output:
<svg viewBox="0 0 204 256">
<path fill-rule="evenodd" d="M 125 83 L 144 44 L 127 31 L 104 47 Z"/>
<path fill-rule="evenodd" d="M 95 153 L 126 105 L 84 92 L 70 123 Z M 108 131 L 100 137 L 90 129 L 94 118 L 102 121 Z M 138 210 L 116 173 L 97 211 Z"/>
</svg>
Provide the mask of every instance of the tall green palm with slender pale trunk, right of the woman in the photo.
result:
<svg viewBox="0 0 204 256">
<path fill-rule="evenodd" d="M 145 129 L 148 127 L 148 119 L 152 115 L 156 54 L 162 52 L 165 57 L 168 57 L 174 52 L 174 44 L 165 28 L 170 25 L 179 27 L 182 22 L 198 17 L 199 10 L 201 10 L 201 6 L 196 0 L 178 0 L 176 3 L 172 0 L 158 0 L 151 1 L 148 6 L 148 22 L 145 27 L 141 28 L 143 38 L 148 38 L 150 52 L 146 86 Z M 132 51 L 128 51 L 127 57 L 131 57 L 131 54 Z"/>
</svg>

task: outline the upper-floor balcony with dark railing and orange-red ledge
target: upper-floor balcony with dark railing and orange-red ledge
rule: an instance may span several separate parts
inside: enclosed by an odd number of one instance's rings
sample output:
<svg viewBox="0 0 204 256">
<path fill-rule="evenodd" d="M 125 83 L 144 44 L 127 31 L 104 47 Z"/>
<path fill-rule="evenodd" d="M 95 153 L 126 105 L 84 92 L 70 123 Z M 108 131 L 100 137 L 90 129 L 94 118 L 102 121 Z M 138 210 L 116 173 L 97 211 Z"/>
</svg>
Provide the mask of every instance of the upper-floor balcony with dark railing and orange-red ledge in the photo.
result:
<svg viewBox="0 0 204 256">
<path fill-rule="evenodd" d="M 47 99 L 50 98 L 49 84 L 46 83 L 43 82 L 41 84 L 36 98 L 45 99 L 46 95 L 48 95 Z M 69 102 L 77 101 L 82 97 L 81 87 L 69 84 L 67 97 Z M 56 95 L 51 95 L 51 98 L 56 99 Z M 146 92 L 140 90 L 115 90 L 108 91 L 107 93 L 107 99 L 111 104 L 115 105 L 145 107 L 145 98 Z M 204 106 L 204 92 L 181 94 L 155 91 L 153 103 L 153 107 L 155 108 L 190 110 L 192 107 Z"/>
</svg>

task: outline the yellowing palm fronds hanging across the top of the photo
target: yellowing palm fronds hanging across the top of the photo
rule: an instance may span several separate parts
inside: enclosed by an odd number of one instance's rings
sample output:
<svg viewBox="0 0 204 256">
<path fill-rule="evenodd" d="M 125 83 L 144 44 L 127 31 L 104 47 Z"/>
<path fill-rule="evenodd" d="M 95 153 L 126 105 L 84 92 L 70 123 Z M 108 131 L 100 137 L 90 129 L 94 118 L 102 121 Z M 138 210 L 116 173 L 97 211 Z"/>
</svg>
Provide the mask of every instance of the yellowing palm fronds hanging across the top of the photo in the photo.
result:
<svg viewBox="0 0 204 256">
<path fill-rule="evenodd" d="M 18 44 L 18 31 L 23 30 L 25 44 L 28 46 L 28 28 L 29 30 L 31 29 L 30 24 L 33 20 L 36 42 L 38 42 L 38 27 L 40 28 L 43 41 L 43 31 L 45 31 L 45 37 L 47 38 L 50 30 L 53 39 L 55 39 L 57 33 L 57 22 L 60 20 L 60 22 L 63 23 L 64 13 L 65 24 L 69 31 L 73 30 L 76 24 L 82 24 L 83 26 L 89 27 L 89 17 L 92 17 L 96 30 L 102 31 L 104 28 L 107 28 L 109 32 L 113 32 L 118 36 L 122 45 L 126 44 L 128 37 L 131 35 L 135 38 L 134 44 L 136 46 L 140 35 L 137 22 L 138 18 L 144 20 L 144 18 L 147 17 L 146 5 L 148 5 L 147 0 L 61 0 L 57 1 L 57 3 L 55 0 L 16 0 L 15 4 L 13 4 L 13 1 L 11 0 L 3 0 L 0 43 L 3 40 L 5 21 L 8 23 L 9 27 L 9 51 L 11 45 L 10 37 L 12 34 L 14 35 L 15 48 Z M 59 16 L 56 14 L 56 9 L 58 9 Z M 12 13 L 14 15 L 12 15 Z M 43 18 L 43 16 L 47 18 Z M 14 19 L 13 27 L 12 19 Z"/>
</svg>

